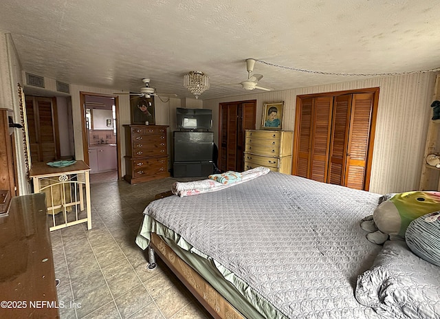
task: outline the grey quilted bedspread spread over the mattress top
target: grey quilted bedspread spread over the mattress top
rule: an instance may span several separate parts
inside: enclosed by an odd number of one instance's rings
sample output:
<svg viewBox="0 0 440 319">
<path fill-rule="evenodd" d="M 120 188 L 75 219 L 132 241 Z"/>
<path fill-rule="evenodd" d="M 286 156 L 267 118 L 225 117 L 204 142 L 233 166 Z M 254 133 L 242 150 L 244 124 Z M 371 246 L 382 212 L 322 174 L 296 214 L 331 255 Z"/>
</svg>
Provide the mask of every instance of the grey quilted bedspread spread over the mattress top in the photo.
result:
<svg viewBox="0 0 440 319">
<path fill-rule="evenodd" d="M 382 249 L 360 228 L 379 198 L 270 172 L 218 192 L 153 201 L 144 213 L 248 283 L 281 317 L 386 318 L 355 299 L 358 276 Z"/>
</svg>

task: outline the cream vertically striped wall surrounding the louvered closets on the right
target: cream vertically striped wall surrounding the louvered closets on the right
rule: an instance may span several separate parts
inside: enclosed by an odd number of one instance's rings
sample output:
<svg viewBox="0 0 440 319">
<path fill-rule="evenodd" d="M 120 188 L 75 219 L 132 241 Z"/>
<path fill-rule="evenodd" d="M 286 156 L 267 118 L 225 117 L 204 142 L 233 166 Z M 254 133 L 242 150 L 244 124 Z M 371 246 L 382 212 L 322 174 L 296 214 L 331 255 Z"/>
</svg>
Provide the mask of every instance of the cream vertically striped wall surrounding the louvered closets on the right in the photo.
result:
<svg viewBox="0 0 440 319">
<path fill-rule="evenodd" d="M 259 128 L 263 103 L 283 100 L 283 129 L 294 131 L 297 95 L 380 87 L 370 191 L 382 194 L 404 192 L 419 188 L 435 76 L 436 74 L 427 72 L 245 94 L 203 100 L 203 108 L 212 109 L 214 139 L 218 143 L 221 102 L 257 100 L 256 127 Z"/>
</svg>

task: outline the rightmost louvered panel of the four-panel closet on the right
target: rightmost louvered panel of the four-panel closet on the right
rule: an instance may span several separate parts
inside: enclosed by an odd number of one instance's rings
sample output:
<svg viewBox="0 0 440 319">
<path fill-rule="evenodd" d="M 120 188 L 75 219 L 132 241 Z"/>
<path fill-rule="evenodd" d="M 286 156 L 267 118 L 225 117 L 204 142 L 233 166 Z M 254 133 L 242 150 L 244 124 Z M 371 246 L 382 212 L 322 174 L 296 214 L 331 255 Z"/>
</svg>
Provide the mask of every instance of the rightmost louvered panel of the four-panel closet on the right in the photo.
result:
<svg viewBox="0 0 440 319">
<path fill-rule="evenodd" d="M 344 186 L 366 189 L 374 94 L 353 94 Z"/>
</svg>

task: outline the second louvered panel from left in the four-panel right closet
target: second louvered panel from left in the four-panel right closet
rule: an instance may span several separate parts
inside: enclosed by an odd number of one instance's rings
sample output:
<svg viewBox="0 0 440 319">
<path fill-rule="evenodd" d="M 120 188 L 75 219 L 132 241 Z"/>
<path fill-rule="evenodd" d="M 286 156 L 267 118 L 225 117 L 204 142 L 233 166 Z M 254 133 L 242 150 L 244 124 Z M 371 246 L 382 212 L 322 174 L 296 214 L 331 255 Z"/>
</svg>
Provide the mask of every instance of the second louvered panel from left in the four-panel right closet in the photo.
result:
<svg viewBox="0 0 440 319">
<path fill-rule="evenodd" d="M 327 182 L 333 97 L 314 99 L 310 179 Z"/>
</svg>

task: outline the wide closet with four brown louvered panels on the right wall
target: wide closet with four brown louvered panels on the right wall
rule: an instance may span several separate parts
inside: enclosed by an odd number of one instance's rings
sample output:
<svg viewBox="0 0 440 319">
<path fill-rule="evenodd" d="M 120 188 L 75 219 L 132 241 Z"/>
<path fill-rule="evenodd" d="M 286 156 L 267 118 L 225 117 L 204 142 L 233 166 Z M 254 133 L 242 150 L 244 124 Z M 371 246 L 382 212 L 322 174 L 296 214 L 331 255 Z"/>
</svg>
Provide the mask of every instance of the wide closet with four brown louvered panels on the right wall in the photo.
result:
<svg viewBox="0 0 440 319">
<path fill-rule="evenodd" d="M 379 88 L 298 96 L 292 173 L 369 190 Z"/>
</svg>

